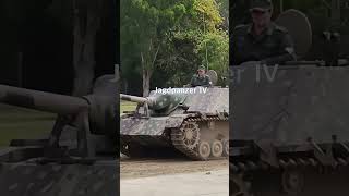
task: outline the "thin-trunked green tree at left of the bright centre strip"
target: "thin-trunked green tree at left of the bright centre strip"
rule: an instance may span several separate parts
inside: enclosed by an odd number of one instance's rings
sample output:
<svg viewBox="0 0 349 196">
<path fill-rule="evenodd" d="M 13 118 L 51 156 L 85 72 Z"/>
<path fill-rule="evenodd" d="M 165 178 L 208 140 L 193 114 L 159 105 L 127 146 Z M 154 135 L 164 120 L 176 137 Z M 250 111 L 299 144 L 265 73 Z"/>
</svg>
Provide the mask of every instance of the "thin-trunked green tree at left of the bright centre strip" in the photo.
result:
<svg viewBox="0 0 349 196">
<path fill-rule="evenodd" d="M 147 96 L 161 46 L 168 39 L 171 28 L 181 20 L 185 8 L 181 1 L 124 0 L 121 2 L 121 8 L 124 8 L 121 13 L 123 15 L 121 37 L 132 36 L 133 39 L 124 40 L 121 50 L 127 50 L 122 54 L 134 57 L 134 54 L 127 53 L 134 52 L 135 57 L 139 56 L 143 77 L 143 96 Z M 133 47 L 125 46 L 130 44 Z"/>
</svg>

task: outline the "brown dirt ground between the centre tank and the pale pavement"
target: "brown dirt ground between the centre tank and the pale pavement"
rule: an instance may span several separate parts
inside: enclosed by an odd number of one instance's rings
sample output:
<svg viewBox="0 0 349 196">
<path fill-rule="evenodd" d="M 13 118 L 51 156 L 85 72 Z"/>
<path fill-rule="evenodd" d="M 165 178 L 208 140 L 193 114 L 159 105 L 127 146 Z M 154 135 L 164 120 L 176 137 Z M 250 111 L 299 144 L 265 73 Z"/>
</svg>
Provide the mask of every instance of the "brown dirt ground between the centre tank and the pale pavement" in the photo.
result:
<svg viewBox="0 0 349 196">
<path fill-rule="evenodd" d="M 129 159 L 120 161 L 121 179 L 139 179 L 165 174 L 209 172 L 227 169 L 228 159 L 191 161 L 188 159 Z"/>
</svg>

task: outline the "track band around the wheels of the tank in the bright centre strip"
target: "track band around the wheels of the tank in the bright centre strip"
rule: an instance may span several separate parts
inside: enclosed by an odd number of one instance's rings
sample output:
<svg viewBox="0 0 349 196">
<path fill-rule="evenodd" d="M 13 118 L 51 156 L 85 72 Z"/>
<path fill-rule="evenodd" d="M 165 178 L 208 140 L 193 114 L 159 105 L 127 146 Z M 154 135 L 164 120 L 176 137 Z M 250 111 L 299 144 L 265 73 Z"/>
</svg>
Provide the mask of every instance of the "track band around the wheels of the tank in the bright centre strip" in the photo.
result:
<svg viewBox="0 0 349 196">
<path fill-rule="evenodd" d="M 188 118 L 188 119 L 185 119 L 183 121 L 182 126 L 185 123 L 210 122 L 210 121 L 228 121 L 228 117 L 218 117 L 218 115 L 205 117 L 205 118 L 203 118 L 203 117 L 191 117 L 191 118 Z M 193 160 L 212 160 L 212 159 L 228 158 L 228 155 L 222 155 L 219 158 L 218 157 L 212 157 L 212 156 L 209 156 L 208 158 L 203 158 L 197 151 L 198 147 L 195 147 L 195 148 L 191 149 L 191 148 L 188 147 L 188 145 L 185 145 L 183 139 L 181 139 L 183 137 L 183 133 L 181 132 L 180 128 L 173 128 L 171 131 L 171 142 L 172 142 L 172 145 L 173 145 L 173 147 L 176 149 L 178 149 L 179 151 L 181 151 L 182 154 L 188 156 L 190 159 L 193 159 Z M 226 142 L 228 142 L 228 140 L 229 140 L 229 138 L 226 138 Z M 222 146 L 222 148 L 224 147 L 225 146 Z"/>
</svg>

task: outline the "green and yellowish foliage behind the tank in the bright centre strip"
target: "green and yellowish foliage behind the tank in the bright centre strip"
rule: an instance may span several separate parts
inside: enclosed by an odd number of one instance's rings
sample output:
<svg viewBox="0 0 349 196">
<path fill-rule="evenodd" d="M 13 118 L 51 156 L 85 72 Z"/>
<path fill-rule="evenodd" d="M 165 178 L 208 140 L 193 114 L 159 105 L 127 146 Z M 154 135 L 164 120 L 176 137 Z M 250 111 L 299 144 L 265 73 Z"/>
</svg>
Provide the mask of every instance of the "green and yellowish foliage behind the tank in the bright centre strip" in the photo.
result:
<svg viewBox="0 0 349 196">
<path fill-rule="evenodd" d="M 182 86 L 207 61 L 220 73 L 228 68 L 228 32 L 221 29 L 221 3 L 121 0 L 121 8 L 123 82 L 135 75 L 142 77 L 142 63 L 153 87 Z"/>
</svg>

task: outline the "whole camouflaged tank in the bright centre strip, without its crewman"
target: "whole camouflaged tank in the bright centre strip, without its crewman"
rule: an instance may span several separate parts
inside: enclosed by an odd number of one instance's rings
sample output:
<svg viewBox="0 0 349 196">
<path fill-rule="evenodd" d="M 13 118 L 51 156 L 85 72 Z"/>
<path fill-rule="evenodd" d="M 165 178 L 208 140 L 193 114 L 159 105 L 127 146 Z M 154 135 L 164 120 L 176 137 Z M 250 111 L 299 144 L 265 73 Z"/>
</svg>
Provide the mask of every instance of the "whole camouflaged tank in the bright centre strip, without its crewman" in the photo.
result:
<svg viewBox="0 0 349 196">
<path fill-rule="evenodd" d="M 129 157 L 174 150 L 193 160 L 227 157 L 229 151 L 228 88 L 176 88 L 156 90 L 137 101 L 137 111 L 121 119 L 121 152 Z M 146 112 L 149 106 L 148 113 Z M 164 105 L 164 106 L 163 106 Z M 147 113 L 147 114 L 146 114 Z"/>
</svg>

